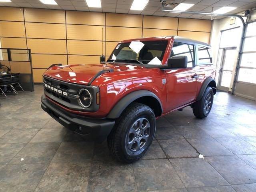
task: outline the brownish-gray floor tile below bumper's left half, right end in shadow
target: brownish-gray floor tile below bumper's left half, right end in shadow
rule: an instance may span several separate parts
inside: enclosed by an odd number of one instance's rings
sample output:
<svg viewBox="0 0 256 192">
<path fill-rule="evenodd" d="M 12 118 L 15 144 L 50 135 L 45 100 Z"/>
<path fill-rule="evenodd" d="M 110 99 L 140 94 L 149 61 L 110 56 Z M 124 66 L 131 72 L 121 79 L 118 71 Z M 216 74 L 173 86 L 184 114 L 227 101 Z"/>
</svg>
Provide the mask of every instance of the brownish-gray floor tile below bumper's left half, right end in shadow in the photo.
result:
<svg viewBox="0 0 256 192">
<path fill-rule="evenodd" d="M 66 134 L 66 128 L 41 129 L 30 142 L 62 142 Z"/>
</svg>

